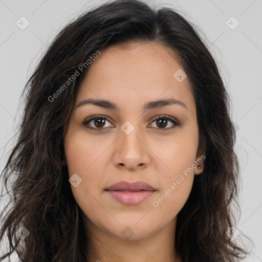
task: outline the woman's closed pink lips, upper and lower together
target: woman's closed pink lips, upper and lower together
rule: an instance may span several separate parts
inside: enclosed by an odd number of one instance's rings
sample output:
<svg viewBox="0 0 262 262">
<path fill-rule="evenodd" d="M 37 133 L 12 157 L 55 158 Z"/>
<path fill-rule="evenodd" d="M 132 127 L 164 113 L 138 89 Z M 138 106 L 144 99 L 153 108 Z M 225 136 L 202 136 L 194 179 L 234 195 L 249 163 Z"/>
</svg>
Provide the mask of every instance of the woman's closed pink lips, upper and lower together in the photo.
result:
<svg viewBox="0 0 262 262">
<path fill-rule="evenodd" d="M 152 197 L 157 191 L 145 182 L 137 181 L 129 183 L 121 181 L 105 189 L 116 201 L 125 205 L 137 205 Z"/>
</svg>

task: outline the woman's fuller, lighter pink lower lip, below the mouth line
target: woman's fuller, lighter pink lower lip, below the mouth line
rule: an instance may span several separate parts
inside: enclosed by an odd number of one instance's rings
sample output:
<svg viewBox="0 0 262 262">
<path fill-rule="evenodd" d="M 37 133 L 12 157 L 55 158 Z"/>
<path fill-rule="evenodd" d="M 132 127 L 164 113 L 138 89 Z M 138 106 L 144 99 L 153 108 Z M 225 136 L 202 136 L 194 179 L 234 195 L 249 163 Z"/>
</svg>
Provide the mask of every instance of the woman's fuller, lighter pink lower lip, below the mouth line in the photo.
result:
<svg viewBox="0 0 262 262">
<path fill-rule="evenodd" d="M 112 198 L 125 205 L 136 205 L 150 198 L 155 191 L 110 191 L 106 190 Z"/>
</svg>

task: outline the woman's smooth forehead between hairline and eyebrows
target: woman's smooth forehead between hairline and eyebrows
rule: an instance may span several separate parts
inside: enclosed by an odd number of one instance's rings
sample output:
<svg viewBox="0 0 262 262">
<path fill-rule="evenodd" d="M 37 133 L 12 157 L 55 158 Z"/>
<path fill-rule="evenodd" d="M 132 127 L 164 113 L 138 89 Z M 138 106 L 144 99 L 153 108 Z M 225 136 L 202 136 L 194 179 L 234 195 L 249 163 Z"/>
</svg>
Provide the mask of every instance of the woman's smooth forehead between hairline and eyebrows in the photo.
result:
<svg viewBox="0 0 262 262">
<path fill-rule="evenodd" d="M 107 47 L 92 61 L 82 80 L 76 104 L 86 98 L 107 99 L 119 107 L 173 97 L 194 111 L 191 85 L 171 49 L 157 42 L 125 43 Z M 122 102 L 121 102 L 122 101 Z M 128 101 L 128 103 L 126 103 Z"/>
</svg>

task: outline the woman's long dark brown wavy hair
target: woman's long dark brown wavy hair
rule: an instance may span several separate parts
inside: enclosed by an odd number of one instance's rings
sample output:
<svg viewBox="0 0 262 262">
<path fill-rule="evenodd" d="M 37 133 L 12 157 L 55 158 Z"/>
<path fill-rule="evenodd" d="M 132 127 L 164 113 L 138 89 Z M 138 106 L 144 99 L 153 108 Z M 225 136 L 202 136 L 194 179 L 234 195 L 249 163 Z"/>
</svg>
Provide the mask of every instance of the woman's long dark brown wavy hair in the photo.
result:
<svg viewBox="0 0 262 262">
<path fill-rule="evenodd" d="M 11 197 L 1 214 L 0 241 L 6 234 L 9 243 L 1 259 L 15 252 L 23 262 L 88 261 L 90 238 L 67 166 L 62 164 L 64 130 L 88 70 L 85 66 L 81 72 L 79 67 L 98 50 L 102 53 L 117 43 L 153 41 L 171 48 L 187 74 L 197 105 L 199 148 L 206 156 L 204 171 L 194 177 L 177 216 L 177 255 L 183 262 L 246 257 L 245 247 L 227 233 L 235 225 L 232 202 L 240 209 L 231 101 L 214 58 L 194 27 L 170 8 L 156 10 L 144 2 L 121 0 L 82 13 L 58 33 L 22 93 L 25 108 L 17 142 L 1 174 Z M 50 99 L 77 69 L 80 75 Z M 24 240 L 17 235 L 21 226 L 30 232 Z"/>
</svg>

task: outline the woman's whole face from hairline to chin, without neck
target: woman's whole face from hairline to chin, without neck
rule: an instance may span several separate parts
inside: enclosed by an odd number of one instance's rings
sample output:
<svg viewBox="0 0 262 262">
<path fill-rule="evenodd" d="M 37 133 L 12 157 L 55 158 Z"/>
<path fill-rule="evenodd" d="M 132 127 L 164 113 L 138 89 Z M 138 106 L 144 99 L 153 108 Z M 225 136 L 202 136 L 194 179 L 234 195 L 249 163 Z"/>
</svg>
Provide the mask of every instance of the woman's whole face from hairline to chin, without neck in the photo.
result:
<svg viewBox="0 0 262 262">
<path fill-rule="evenodd" d="M 195 165 L 201 156 L 195 101 L 171 50 L 156 42 L 122 47 L 101 50 L 89 65 L 64 149 L 87 226 L 137 240 L 176 221 L 203 162 Z M 156 103 L 167 99 L 175 103 Z M 107 190 L 118 182 L 144 182 L 151 189 L 140 183 L 139 192 Z"/>
</svg>

